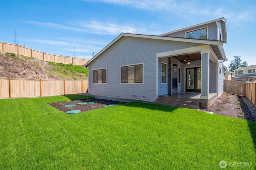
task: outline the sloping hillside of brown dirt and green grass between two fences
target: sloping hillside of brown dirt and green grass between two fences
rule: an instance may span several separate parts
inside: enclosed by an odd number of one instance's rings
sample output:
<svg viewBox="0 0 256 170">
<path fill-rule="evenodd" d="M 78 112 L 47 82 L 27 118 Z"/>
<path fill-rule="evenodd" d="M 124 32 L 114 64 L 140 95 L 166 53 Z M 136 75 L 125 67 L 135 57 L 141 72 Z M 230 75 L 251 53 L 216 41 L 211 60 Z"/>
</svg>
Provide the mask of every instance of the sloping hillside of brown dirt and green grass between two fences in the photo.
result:
<svg viewBox="0 0 256 170">
<path fill-rule="evenodd" d="M 86 80 L 88 70 L 73 64 L 45 62 L 14 53 L 0 52 L 0 77 Z"/>
</svg>

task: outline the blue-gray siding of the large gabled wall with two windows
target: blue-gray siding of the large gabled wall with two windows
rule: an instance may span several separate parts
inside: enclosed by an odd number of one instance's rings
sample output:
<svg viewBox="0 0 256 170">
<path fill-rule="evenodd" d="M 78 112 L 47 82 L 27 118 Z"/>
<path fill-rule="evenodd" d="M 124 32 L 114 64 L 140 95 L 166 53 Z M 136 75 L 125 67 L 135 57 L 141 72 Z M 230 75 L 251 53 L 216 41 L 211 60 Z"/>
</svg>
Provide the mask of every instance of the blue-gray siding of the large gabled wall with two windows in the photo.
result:
<svg viewBox="0 0 256 170">
<path fill-rule="evenodd" d="M 122 37 L 89 64 L 89 93 L 156 100 L 156 54 L 197 45 L 201 44 Z M 143 63 L 144 83 L 120 84 L 120 66 L 139 63 Z M 99 68 L 107 68 L 107 84 L 93 84 L 92 70 Z"/>
</svg>

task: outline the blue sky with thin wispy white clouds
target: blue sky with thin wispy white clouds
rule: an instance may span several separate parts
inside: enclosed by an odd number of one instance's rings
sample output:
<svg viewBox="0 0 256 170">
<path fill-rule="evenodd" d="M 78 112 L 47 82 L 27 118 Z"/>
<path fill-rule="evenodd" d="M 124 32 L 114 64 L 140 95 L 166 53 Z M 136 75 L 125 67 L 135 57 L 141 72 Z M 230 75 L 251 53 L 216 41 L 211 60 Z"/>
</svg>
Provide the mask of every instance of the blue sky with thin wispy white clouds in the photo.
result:
<svg viewBox="0 0 256 170">
<path fill-rule="evenodd" d="M 256 64 L 256 0 L 0 0 L 0 41 L 91 59 L 120 33 L 160 35 L 224 17 L 228 66 Z"/>
</svg>

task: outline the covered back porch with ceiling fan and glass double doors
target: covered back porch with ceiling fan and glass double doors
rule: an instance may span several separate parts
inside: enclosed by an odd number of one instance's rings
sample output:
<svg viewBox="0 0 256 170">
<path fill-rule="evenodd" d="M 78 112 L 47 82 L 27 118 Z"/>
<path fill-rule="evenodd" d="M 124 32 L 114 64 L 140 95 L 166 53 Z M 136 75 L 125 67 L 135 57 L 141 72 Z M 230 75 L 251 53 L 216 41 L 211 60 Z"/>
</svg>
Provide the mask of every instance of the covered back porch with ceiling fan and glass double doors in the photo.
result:
<svg viewBox="0 0 256 170">
<path fill-rule="evenodd" d="M 202 45 L 157 54 L 156 104 L 208 109 L 218 98 L 218 60 L 216 46 Z M 162 83 L 162 63 L 167 63 L 166 84 Z"/>
</svg>

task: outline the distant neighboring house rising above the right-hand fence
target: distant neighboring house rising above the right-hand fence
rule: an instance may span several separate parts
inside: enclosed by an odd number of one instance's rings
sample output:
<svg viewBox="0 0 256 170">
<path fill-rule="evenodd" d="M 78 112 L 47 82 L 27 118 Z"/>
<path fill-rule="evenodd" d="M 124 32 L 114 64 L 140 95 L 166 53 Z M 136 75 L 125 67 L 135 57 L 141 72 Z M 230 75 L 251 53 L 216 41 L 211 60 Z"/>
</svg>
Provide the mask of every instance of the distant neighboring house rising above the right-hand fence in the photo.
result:
<svg viewBox="0 0 256 170">
<path fill-rule="evenodd" d="M 256 65 L 238 68 L 234 72 L 235 75 L 232 80 L 242 82 L 256 81 Z"/>
</svg>

